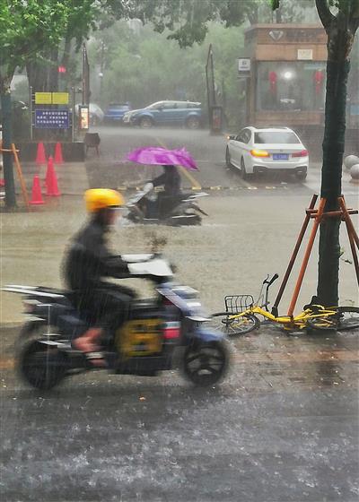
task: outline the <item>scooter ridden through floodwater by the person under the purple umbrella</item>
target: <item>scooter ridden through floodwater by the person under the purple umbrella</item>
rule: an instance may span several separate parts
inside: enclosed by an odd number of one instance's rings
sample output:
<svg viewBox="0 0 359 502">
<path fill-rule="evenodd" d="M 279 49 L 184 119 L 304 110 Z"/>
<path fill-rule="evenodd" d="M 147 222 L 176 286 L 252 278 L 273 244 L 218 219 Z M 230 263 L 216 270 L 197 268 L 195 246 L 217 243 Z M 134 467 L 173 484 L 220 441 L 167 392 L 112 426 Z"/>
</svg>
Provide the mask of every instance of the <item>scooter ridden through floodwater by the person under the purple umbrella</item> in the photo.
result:
<svg viewBox="0 0 359 502">
<path fill-rule="evenodd" d="M 200 225 L 202 215 L 208 216 L 208 214 L 198 206 L 197 199 L 206 195 L 208 194 L 205 192 L 182 194 L 177 198 L 171 212 L 162 215 L 156 204 L 155 195 L 144 190 L 129 198 L 124 217 L 127 221 L 142 224 Z M 153 208 L 151 215 L 149 215 L 150 206 Z"/>
</svg>

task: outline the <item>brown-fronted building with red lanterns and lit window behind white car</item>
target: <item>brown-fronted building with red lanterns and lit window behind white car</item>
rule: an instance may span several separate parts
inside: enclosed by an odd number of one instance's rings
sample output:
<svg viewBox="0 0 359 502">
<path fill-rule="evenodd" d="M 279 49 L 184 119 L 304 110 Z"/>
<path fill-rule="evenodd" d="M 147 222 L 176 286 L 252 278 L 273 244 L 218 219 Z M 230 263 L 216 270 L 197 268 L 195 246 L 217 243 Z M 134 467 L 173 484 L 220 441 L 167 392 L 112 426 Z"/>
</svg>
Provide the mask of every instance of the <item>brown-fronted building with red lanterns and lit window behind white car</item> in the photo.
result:
<svg viewBox="0 0 359 502">
<path fill-rule="evenodd" d="M 326 43 L 327 35 L 317 25 L 261 24 L 246 31 L 250 124 L 323 123 Z"/>
</svg>

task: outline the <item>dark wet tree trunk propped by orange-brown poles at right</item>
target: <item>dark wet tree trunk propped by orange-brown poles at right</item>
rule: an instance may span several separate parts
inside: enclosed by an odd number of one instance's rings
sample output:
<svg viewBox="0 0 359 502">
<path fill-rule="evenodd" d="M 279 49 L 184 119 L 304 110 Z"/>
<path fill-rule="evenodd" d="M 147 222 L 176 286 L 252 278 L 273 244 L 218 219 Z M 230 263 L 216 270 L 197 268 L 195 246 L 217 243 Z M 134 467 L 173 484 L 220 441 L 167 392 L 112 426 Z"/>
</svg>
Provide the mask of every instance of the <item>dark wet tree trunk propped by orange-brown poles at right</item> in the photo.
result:
<svg viewBox="0 0 359 502">
<path fill-rule="evenodd" d="M 325 212 L 337 209 L 341 195 L 342 165 L 346 134 L 346 86 L 350 70 L 357 18 L 350 10 L 333 15 L 326 0 L 316 0 L 321 22 L 328 34 L 327 95 L 323 139 L 321 196 L 327 199 Z M 354 1 L 353 1 L 354 5 Z M 320 223 L 317 295 L 320 303 L 334 306 L 339 300 L 340 218 Z"/>
</svg>

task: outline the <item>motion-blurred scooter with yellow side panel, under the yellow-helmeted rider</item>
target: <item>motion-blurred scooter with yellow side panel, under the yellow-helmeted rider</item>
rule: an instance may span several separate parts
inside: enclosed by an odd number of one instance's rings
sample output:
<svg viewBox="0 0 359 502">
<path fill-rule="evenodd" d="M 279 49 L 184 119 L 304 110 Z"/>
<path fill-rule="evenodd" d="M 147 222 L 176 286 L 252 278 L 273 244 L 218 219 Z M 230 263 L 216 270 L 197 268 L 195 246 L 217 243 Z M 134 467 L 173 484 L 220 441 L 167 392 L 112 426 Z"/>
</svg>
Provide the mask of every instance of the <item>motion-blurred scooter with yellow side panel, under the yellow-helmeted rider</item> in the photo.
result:
<svg viewBox="0 0 359 502">
<path fill-rule="evenodd" d="M 131 276 L 153 281 L 154 299 L 131 302 L 127 321 L 103 337 L 109 373 L 155 376 L 180 366 L 195 385 L 214 385 L 225 375 L 229 351 L 223 334 L 207 328 L 197 291 L 171 281 L 162 255 L 123 255 Z M 31 315 L 17 343 L 17 364 L 33 387 L 48 390 L 66 376 L 94 370 L 71 341 L 88 329 L 72 294 L 52 288 L 10 285 Z"/>
</svg>

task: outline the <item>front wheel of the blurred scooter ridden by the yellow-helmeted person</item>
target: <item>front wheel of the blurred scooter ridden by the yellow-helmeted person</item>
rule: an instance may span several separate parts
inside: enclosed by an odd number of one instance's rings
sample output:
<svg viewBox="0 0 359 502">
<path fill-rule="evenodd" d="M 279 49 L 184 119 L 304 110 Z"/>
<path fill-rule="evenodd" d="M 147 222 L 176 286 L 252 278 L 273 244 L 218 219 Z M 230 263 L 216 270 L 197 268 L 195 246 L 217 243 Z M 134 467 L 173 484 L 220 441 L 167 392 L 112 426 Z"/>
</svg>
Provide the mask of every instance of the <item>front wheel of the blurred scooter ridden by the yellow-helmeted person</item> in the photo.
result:
<svg viewBox="0 0 359 502">
<path fill-rule="evenodd" d="M 215 385 L 228 369 L 230 351 L 225 340 L 194 342 L 184 352 L 183 371 L 195 385 Z"/>
</svg>

